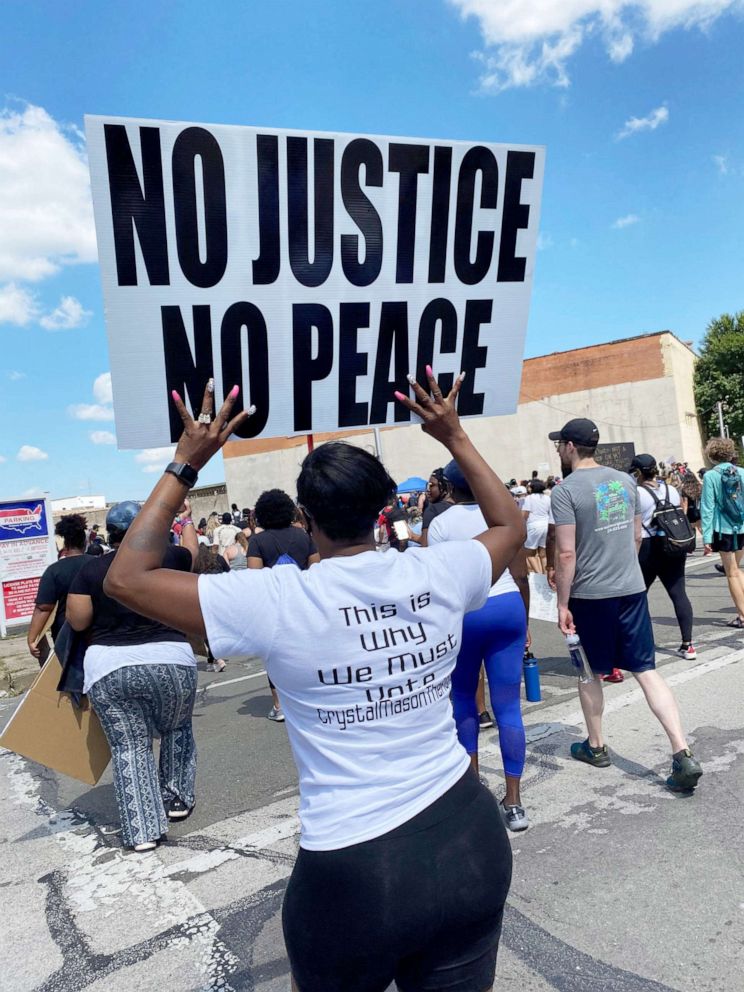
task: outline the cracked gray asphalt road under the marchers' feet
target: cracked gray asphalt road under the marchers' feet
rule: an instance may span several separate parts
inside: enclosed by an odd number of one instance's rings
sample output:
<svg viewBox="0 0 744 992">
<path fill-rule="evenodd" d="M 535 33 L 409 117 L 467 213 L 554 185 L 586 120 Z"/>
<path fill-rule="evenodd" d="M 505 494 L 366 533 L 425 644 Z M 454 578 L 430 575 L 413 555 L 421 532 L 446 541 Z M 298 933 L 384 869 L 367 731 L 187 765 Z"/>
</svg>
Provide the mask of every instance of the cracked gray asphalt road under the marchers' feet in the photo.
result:
<svg viewBox="0 0 744 992">
<path fill-rule="evenodd" d="M 614 762 L 590 769 L 557 631 L 533 624 L 544 700 L 525 705 L 523 795 L 497 988 L 713 992 L 741 987 L 744 639 L 711 559 L 690 562 L 695 662 L 651 595 L 658 663 L 704 763 L 693 797 L 663 787 L 666 739 L 632 680 L 606 687 Z M 201 666 L 203 667 L 203 666 Z M 0 702 L 0 721 L 16 701 Z M 197 809 L 156 853 L 121 850 L 110 770 L 88 788 L 0 754 L 0 989 L 288 989 L 279 908 L 297 845 L 296 774 L 255 659 L 200 673 Z M 495 732 L 482 771 L 501 794 Z M 353 990 L 349 990 L 353 992 Z"/>
</svg>

